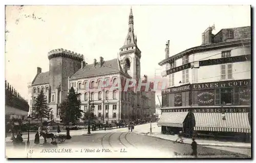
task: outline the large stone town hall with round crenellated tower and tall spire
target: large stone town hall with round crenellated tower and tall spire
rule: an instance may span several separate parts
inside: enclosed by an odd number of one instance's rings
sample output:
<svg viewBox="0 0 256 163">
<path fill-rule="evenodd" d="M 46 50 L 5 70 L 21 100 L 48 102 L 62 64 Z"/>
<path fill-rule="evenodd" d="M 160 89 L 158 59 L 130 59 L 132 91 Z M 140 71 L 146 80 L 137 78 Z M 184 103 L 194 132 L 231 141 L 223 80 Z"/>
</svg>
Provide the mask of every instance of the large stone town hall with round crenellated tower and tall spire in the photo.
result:
<svg viewBox="0 0 256 163">
<path fill-rule="evenodd" d="M 37 74 L 29 84 L 30 108 L 42 90 L 53 110 L 55 120 L 59 121 L 58 106 L 67 98 L 73 87 L 81 100 L 81 109 L 93 112 L 98 120 L 129 121 L 145 119 L 155 111 L 155 92 L 137 91 L 137 87 L 124 90 L 127 79 L 140 78 L 141 51 L 134 34 L 132 9 L 129 15 L 127 36 L 119 49 L 118 58 L 94 59 L 92 64 L 84 62 L 83 55 L 63 49 L 48 53 L 49 72 Z M 94 105 L 91 109 L 89 105 Z M 32 109 L 30 109 L 32 111 Z"/>
</svg>

